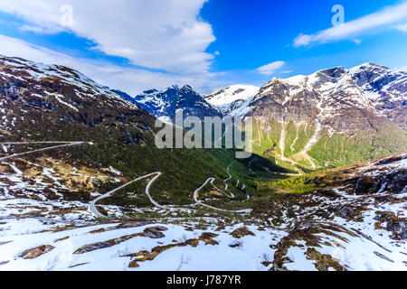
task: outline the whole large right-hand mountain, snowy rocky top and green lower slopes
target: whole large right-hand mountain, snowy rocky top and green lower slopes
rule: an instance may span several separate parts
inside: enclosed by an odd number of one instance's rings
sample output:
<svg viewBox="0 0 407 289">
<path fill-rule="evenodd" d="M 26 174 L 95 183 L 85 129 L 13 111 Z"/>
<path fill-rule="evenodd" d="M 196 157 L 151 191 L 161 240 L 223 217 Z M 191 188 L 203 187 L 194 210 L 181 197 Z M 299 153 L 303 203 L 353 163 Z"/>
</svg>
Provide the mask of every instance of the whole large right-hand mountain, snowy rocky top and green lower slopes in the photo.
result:
<svg viewBox="0 0 407 289">
<path fill-rule="evenodd" d="M 258 154 L 297 167 L 341 165 L 407 150 L 406 91 L 406 72 L 336 67 L 271 79 L 230 115 L 254 117 Z"/>
</svg>

